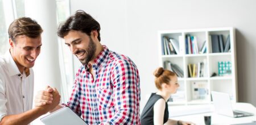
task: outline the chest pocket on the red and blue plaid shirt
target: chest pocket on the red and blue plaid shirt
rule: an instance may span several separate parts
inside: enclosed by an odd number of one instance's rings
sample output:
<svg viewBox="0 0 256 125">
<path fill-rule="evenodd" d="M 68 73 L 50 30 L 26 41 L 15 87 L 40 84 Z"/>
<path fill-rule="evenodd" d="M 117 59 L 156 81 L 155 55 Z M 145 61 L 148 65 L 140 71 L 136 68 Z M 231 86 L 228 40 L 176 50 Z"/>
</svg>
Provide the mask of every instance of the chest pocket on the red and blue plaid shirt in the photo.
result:
<svg viewBox="0 0 256 125">
<path fill-rule="evenodd" d="M 114 107 L 113 89 L 106 87 L 97 90 L 98 109 L 106 110 Z"/>
</svg>

